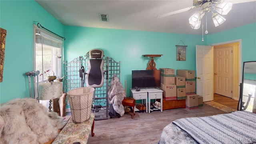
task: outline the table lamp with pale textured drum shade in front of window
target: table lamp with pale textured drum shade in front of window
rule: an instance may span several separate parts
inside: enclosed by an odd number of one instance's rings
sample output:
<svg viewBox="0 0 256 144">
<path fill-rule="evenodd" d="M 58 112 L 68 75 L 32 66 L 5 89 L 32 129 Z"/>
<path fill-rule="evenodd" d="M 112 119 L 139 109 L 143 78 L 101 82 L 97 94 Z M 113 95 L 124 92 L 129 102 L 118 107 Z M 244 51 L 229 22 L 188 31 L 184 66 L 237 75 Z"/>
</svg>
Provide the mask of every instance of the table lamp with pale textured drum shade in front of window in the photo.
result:
<svg viewBox="0 0 256 144">
<path fill-rule="evenodd" d="M 52 99 L 60 98 L 63 91 L 63 82 L 46 82 L 39 84 L 38 100 L 50 100 L 49 112 L 52 111 Z"/>
</svg>

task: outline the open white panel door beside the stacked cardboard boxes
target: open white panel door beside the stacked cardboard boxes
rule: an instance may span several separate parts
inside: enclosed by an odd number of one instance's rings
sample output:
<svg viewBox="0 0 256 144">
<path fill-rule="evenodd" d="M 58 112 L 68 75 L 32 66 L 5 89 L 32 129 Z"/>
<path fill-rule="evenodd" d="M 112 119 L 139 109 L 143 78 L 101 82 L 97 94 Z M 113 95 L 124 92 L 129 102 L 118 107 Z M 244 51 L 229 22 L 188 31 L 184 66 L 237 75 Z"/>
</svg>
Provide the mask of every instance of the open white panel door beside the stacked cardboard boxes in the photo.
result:
<svg viewBox="0 0 256 144">
<path fill-rule="evenodd" d="M 213 100 L 213 46 L 196 45 L 196 94 Z"/>
</svg>

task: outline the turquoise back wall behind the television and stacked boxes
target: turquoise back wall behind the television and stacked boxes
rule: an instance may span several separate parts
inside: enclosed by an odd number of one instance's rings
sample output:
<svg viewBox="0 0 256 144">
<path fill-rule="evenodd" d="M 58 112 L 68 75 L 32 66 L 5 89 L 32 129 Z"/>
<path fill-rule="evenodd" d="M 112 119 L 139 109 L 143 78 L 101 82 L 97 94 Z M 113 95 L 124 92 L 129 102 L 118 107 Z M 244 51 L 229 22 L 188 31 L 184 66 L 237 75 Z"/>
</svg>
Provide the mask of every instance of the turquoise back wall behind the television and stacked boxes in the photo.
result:
<svg viewBox="0 0 256 144">
<path fill-rule="evenodd" d="M 156 68 L 196 68 L 196 45 L 206 45 L 202 36 L 135 30 L 116 30 L 65 26 L 65 60 L 84 56 L 92 49 L 104 50 L 104 55 L 121 62 L 120 81 L 126 81 L 127 95 L 130 95 L 132 70 L 146 70 L 148 58 L 144 54 L 163 54 L 155 60 Z M 176 45 L 186 48 L 186 61 L 176 61 Z M 179 43 L 180 42 L 180 43 Z"/>
</svg>

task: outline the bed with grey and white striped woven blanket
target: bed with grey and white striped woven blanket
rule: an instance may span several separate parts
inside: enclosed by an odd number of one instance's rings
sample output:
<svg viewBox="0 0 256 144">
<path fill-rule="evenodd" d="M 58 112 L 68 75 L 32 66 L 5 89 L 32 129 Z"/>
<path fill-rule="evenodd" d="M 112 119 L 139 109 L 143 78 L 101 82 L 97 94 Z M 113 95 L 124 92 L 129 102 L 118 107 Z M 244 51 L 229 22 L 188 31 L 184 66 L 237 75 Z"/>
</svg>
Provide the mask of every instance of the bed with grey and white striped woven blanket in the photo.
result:
<svg viewBox="0 0 256 144">
<path fill-rule="evenodd" d="M 174 120 L 158 144 L 256 144 L 256 114 L 236 111 Z"/>
</svg>

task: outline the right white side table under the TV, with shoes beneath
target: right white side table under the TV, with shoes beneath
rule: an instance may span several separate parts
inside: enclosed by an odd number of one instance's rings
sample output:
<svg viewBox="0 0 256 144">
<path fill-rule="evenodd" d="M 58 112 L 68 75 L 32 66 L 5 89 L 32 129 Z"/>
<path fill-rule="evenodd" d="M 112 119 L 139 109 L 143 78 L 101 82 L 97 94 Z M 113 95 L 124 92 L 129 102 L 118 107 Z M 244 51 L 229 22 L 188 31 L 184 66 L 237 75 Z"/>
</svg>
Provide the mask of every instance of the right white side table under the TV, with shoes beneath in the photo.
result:
<svg viewBox="0 0 256 144">
<path fill-rule="evenodd" d="M 148 113 L 150 114 L 150 100 L 151 99 L 160 99 L 161 109 L 160 112 L 163 112 L 163 91 L 156 88 L 147 88 L 148 92 Z"/>
</svg>

